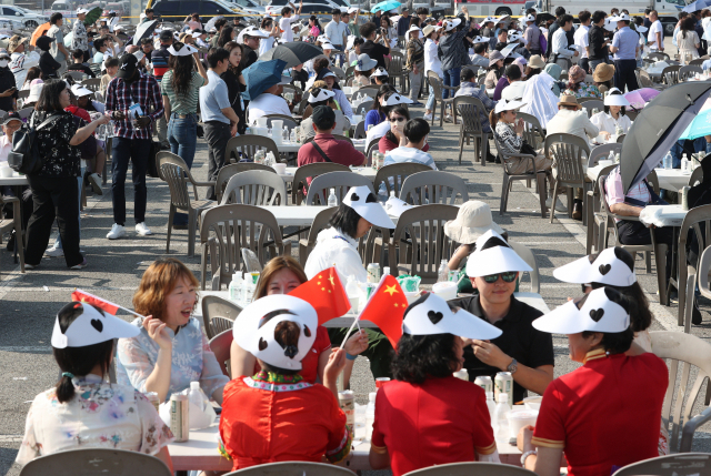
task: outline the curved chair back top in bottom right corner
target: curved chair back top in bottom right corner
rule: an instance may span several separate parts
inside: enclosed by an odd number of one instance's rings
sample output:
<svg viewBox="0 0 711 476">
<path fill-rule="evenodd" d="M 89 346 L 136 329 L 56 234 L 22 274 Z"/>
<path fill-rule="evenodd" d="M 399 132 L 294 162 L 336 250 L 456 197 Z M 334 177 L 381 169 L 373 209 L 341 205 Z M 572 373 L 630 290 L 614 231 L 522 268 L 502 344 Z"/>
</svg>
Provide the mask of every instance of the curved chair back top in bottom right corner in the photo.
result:
<svg viewBox="0 0 711 476">
<path fill-rule="evenodd" d="M 632 463 L 612 476 L 709 476 L 711 475 L 711 455 L 708 453 L 682 453 Z"/>
</svg>

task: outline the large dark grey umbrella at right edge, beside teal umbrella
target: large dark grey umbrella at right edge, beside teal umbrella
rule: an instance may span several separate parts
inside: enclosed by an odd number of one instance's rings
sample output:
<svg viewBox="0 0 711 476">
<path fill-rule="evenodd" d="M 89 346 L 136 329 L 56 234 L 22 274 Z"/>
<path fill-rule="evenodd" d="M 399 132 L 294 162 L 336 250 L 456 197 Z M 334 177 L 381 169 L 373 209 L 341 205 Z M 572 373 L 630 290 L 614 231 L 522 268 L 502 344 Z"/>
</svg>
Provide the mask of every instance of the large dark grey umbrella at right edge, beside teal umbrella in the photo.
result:
<svg viewBox="0 0 711 476">
<path fill-rule="evenodd" d="M 647 104 L 622 143 L 620 173 L 624 193 L 661 162 L 710 93 L 711 82 L 685 82 L 662 91 Z"/>
</svg>

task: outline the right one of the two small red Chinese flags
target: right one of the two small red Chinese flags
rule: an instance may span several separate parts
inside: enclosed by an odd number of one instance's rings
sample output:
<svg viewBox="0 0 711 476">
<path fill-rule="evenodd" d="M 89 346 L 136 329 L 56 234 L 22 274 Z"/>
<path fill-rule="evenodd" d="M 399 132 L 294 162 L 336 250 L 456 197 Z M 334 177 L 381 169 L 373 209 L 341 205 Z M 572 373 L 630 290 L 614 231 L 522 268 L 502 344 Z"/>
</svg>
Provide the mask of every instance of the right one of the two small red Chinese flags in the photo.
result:
<svg viewBox="0 0 711 476">
<path fill-rule="evenodd" d="M 407 308 L 408 298 L 398 280 L 388 274 L 380 280 L 380 284 L 373 291 L 359 318 L 370 321 L 380 327 L 392 344 L 392 348 L 397 348 L 398 341 L 402 337 L 402 317 Z"/>
</svg>

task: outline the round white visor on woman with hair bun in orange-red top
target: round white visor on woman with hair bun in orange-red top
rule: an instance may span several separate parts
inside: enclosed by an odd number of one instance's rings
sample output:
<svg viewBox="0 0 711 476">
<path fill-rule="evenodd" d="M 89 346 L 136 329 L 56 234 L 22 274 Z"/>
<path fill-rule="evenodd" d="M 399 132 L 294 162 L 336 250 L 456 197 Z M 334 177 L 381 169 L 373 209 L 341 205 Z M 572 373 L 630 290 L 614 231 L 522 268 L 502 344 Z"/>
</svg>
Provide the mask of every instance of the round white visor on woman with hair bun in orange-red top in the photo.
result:
<svg viewBox="0 0 711 476">
<path fill-rule="evenodd" d="M 277 342 L 277 325 L 289 321 L 299 325 L 297 345 Z M 308 302 L 287 294 L 261 297 L 240 313 L 234 321 L 234 341 L 254 357 L 279 368 L 300 371 L 301 361 L 308 355 L 316 341 L 319 318 Z"/>
</svg>

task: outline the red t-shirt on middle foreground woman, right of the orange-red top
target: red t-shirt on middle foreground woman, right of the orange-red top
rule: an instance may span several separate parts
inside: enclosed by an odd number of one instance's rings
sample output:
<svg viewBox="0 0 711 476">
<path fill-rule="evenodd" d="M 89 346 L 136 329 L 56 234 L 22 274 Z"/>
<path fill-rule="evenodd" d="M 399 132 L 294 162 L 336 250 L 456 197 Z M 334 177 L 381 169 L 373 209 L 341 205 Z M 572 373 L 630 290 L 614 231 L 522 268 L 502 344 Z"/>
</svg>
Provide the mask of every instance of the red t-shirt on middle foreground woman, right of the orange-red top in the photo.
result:
<svg viewBox="0 0 711 476">
<path fill-rule="evenodd" d="M 378 391 L 371 448 L 390 454 L 392 474 L 475 460 L 497 449 L 484 391 L 455 377 L 422 385 L 392 381 Z"/>
</svg>

